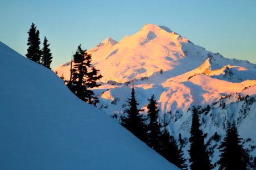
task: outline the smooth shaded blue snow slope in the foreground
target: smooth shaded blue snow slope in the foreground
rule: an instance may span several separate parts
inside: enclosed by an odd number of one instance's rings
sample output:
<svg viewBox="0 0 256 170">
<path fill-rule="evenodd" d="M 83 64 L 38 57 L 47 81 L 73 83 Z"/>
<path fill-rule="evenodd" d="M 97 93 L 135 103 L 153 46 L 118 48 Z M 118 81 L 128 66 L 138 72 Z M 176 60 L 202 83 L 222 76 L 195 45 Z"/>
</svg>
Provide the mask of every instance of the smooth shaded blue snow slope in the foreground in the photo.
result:
<svg viewBox="0 0 256 170">
<path fill-rule="evenodd" d="M 0 42 L 0 169 L 179 169 Z"/>
</svg>

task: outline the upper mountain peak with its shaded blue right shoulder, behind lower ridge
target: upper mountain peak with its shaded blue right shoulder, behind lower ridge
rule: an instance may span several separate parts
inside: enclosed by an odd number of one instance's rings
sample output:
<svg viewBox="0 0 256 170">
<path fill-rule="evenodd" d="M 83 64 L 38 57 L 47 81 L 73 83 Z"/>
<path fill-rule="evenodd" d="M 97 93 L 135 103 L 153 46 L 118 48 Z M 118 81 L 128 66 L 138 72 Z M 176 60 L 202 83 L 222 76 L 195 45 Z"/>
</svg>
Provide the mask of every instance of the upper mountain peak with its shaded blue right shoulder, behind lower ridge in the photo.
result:
<svg viewBox="0 0 256 170">
<path fill-rule="evenodd" d="M 108 38 L 88 53 L 92 54 L 94 65 L 104 76 L 101 81 L 105 83 L 109 80 L 124 83 L 151 76 L 160 70 L 167 72 L 169 77 L 181 75 L 196 69 L 208 57 L 214 70 L 228 65 L 255 67 L 247 61 L 226 59 L 208 52 L 169 28 L 154 24 L 146 24 L 139 32 L 124 37 L 120 42 Z M 69 78 L 69 70 L 70 62 L 56 69 L 65 78 Z M 237 76 L 240 78 L 239 74 Z"/>
</svg>

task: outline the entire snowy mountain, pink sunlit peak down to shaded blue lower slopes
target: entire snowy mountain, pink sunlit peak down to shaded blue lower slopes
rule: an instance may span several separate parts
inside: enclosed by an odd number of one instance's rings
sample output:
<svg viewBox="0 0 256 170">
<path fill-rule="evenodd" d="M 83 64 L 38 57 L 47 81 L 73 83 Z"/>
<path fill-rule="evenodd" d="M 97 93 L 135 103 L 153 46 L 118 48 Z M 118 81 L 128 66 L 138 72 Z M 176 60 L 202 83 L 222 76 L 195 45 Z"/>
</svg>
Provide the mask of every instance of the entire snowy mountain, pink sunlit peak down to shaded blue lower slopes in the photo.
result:
<svg viewBox="0 0 256 170">
<path fill-rule="evenodd" d="M 223 139 L 229 122 L 236 121 L 244 146 L 256 156 L 256 65 L 228 59 L 193 44 L 169 28 L 146 24 L 137 33 L 117 42 L 111 38 L 88 50 L 96 69 L 104 76 L 94 89 L 101 108 L 117 118 L 126 108 L 134 84 L 139 108 L 147 112 L 148 98 L 155 95 L 160 114 L 170 118 L 170 133 L 189 138 L 191 107 L 201 105 L 201 128 L 210 159 L 218 160 L 214 134 Z M 70 62 L 56 69 L 69 79 Z M 162 120 L 160 120 L 162 121 Z M 189 158 L 189 142 L 183 146 Z M 216 167 L 217 169 L 218 167 Z"/>
</svg>

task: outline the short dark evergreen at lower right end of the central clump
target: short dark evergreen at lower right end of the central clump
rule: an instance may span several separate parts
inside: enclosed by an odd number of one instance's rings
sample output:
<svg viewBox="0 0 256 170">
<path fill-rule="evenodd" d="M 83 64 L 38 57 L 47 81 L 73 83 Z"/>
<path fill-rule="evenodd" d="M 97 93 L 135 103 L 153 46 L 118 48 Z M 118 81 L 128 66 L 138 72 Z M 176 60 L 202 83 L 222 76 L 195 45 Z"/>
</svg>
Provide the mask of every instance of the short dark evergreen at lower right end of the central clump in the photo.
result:
<svg viewBox="0 0 256 170">
<path fill-rule="evenodd" d="M 183 158 L 183 151 L 177 146 L 174 137 L 170 136 L 167 126 L 164 126 L 164 131 L 160 136 L 160 143 L 160 155 L 181 169 L 187 168 L 185 159 Z"/>
</svg>

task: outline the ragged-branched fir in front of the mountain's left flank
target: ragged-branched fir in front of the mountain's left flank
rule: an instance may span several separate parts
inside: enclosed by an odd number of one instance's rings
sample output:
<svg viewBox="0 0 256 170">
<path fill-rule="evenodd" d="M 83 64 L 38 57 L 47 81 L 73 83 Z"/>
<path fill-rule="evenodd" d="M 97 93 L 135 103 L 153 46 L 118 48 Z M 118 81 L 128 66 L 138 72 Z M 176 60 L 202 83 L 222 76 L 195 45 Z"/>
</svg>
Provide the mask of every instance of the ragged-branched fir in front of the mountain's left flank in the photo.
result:
<svg viewBox="0 0 256 170">
<path fill-rule="evenodd" d="M 69 83 L 69 89 L 86 103 L 96 105 L 98 97 L 88 88 L 100 86 L 96 81 L 101 79 L 102 75 L 98 74 L 99 70 L 95 69 L 91 63 L 92 56 L 86 53 L 81 45 L 78 46 L 76 53 L 73 55 L 73 61 L 75 65 L 71 71 L 72 83 Z"/>
</svg>

